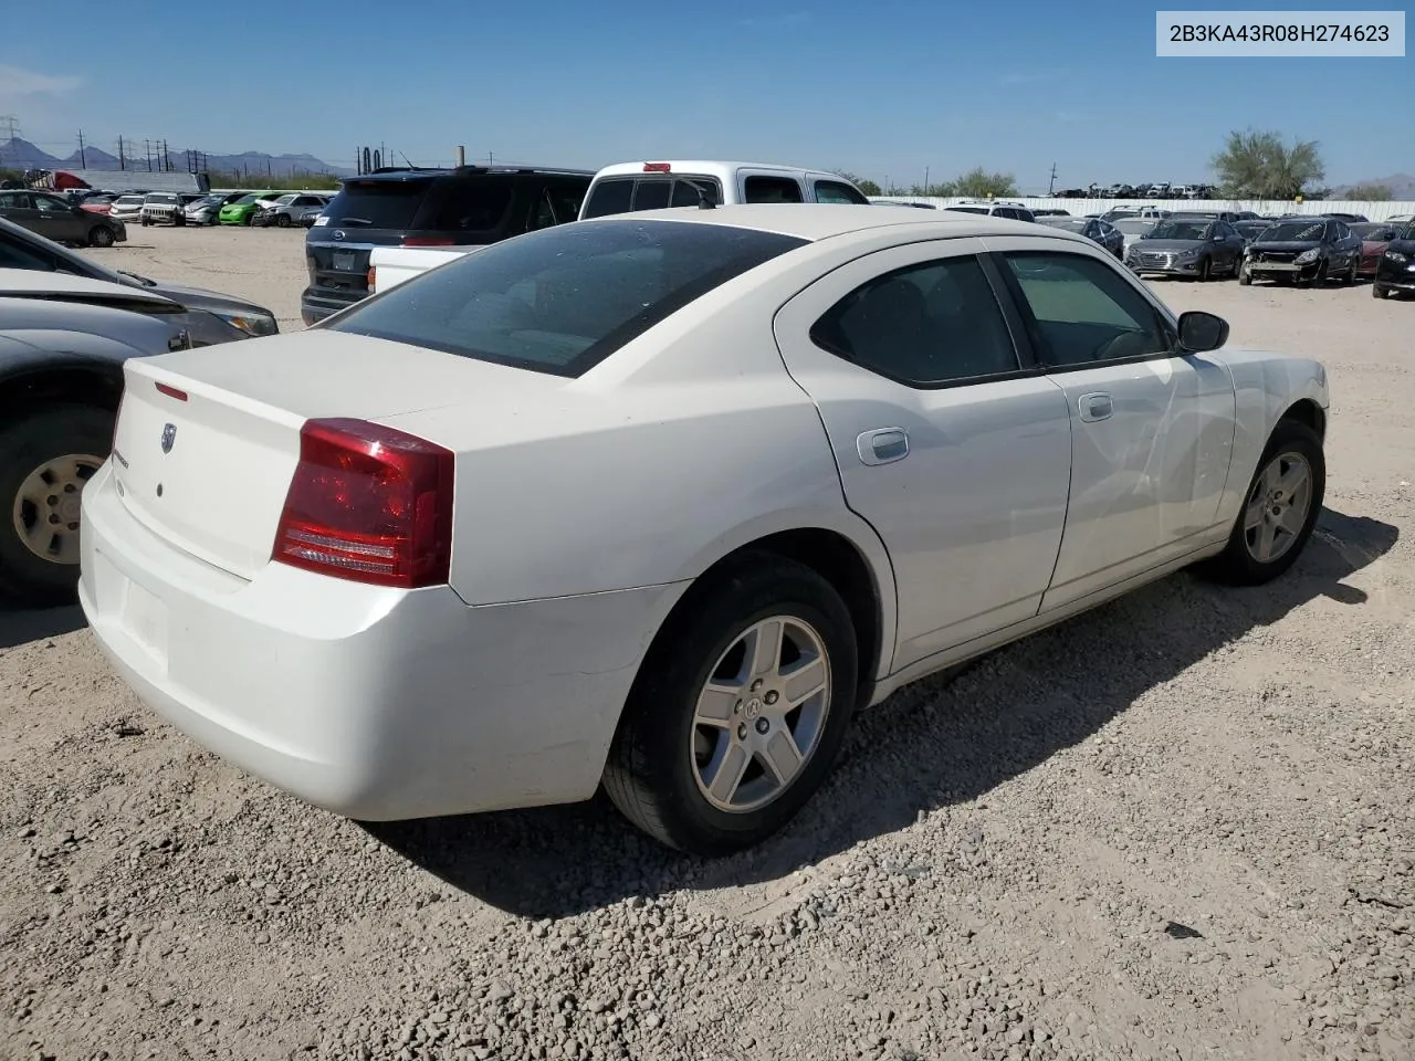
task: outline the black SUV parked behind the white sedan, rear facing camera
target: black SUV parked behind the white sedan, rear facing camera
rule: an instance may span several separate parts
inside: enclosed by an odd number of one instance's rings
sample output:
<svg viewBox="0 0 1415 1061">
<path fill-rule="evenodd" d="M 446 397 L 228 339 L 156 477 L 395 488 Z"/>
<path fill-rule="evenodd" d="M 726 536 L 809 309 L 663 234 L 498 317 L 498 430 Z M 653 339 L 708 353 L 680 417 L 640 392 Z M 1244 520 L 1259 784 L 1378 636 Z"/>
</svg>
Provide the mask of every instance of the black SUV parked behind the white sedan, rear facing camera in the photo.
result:
<svg viewBox="0 0 1415 1061">
<path fill-rule="evenodd" d="M 461 166 L 347 177 L 304 240 L 306 324 L 368 296 L 376 246 L 483 246 L 574 221 L 591 170 Z"/>
</svg>

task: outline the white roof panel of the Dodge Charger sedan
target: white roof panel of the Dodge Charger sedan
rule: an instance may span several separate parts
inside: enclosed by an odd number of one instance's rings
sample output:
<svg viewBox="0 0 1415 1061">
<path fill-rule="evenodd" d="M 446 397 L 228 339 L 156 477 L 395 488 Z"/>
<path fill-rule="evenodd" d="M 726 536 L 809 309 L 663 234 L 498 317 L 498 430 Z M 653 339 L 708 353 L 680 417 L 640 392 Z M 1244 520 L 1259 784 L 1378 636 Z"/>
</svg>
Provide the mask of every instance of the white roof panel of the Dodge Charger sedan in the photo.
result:
<svg viewBox="0 0 1415 1061">
<path fill-rule="evenodd" d="M 986 214 L 958 214 L 945 209 L 924 211 L 910 207 L 833 202 L 754 202 L 732 207 L 671 207 L 668 209 L 647 209 L 631 214 L 608 214 L 580 225 L 611 222 L 633 225 L 644 221 L 681 221 L 699 225 L 732 225 L 761 232 L 775 232 L 811 242 L 832 239 L 852 232 L 882 229 L 891 225 L 908 225 L 918 239 L 957 239 L 962 236 L 1034 236 L 1044 239 L 1070 239 L 1087 246 L 1091 240 L 1064 232 L 1058 228 L 1037 225 L 1030 221 L 1010 221 Z M 914 235 L 911 232 L 910 235 Z"/>
</svg>

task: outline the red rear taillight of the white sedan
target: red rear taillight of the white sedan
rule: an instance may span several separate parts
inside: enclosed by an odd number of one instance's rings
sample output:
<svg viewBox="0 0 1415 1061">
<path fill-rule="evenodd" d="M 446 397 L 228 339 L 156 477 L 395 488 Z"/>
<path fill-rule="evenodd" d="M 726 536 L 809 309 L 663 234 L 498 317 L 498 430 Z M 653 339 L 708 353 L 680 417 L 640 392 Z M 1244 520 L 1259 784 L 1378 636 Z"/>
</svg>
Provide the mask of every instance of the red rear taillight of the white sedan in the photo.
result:
<svg viewBox="0 0 1415 1061">
<path fill-rule="evenodd" d="M 450 450 L 366 420 L 308 420 L 270 559 L 335 579 L 441 586 L 451 569 Z"/>
</svg>

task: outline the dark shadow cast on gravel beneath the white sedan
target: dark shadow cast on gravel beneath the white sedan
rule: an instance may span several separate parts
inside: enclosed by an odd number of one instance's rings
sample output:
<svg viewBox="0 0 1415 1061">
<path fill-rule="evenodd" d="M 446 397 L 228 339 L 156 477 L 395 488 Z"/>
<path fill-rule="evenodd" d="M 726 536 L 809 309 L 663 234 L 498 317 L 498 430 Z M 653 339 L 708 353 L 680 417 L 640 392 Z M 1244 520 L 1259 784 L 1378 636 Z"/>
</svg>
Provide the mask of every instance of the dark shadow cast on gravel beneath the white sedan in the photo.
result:
<svg viewBox="0 0 1415 1061">
<path fill-rule="evenodd" d="M 777 880 L 921 813 L 983 796 L 1307 601 L 1360 605 L 1365 594 L 1343 579 L 1398 536 L 1388 523 L 1324 509 L 1302 560 L 1268 586 L 1232 590 L 1182 573 L 959 672 L 916 682 L 857 719 L 831 779 L 782 833 L 729 859 L 662 849 L 603 794 L 573 806 L 364 828 L 449 886 L 532 918 Z"/>
</svg>

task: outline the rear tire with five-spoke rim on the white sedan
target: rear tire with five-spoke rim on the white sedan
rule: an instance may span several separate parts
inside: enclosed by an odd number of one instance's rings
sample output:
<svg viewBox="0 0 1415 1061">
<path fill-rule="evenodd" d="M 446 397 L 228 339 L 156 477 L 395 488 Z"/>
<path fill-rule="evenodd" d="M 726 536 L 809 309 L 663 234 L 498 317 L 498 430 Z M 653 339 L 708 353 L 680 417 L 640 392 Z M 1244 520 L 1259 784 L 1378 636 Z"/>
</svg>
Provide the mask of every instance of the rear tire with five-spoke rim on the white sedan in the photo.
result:
<svg viewBox="0 0 1415 1061">
<path fill-rule="evenodd" d="M 771 836 L 829 774 L 855 710 L 841 594 L 805 564 L 744 553 L 689 590 L 634 682 L 604 768 L 610 799 L 679 850 Z"/>
</svg>

